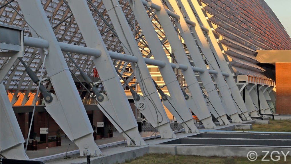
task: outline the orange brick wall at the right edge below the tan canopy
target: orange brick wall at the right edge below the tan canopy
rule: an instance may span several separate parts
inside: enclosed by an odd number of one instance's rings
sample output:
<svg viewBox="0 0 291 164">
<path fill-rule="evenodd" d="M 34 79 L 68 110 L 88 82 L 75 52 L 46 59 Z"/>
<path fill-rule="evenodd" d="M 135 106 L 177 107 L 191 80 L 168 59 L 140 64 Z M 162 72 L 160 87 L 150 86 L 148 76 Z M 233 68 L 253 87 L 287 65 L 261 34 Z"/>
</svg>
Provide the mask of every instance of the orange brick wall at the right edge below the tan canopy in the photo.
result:
<svg viewBox="0 0 291 164">
<path fill-rule="evenodd" d="M 291 63 L 276 63 L 276 113 L 291 114 Z"/>
</svg>

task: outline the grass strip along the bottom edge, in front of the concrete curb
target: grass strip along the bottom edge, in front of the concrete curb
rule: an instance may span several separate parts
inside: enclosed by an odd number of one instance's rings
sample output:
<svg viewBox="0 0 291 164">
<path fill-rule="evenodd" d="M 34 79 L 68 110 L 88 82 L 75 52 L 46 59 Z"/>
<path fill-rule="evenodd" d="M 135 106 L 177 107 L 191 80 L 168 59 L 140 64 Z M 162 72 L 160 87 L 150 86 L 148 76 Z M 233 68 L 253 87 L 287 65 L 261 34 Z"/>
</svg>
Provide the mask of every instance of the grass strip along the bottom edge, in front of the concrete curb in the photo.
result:
<svg viewBox="0 0 291 164">
<path fill-rule="evenodd" d="M 138 157 L 131 161 L 126 161 L 126 164 L 290 164 L 291 157 L 287 156 L 286 161 L 284 161 L 284 157 L 281 156 L 279 161 L 272 161 L 270 157 L 266 157 L 265 159 L 269 159 L 270 161 L 261 161 L 262 157 L 258 157 L 256 161 L 249 161 L 246 157 L 205 157 L 205 156 L 183 156 L 183 155 L 171 155 L 171 154 L 145 154 L 142 157 Z M 274 159 L 277 159 L 274 157 Z M 124 164 L 125 164 L 124 163 Z"/>
</svg>

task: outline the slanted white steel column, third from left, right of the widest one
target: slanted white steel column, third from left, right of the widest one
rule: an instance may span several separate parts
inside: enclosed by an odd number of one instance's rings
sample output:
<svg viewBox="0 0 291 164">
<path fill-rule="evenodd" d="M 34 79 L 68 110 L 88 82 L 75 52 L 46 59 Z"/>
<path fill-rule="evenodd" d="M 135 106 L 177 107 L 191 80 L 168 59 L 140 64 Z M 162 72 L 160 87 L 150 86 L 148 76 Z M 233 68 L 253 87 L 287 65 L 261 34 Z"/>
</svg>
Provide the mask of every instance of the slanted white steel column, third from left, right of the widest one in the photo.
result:
<svg viewBox="0 0 291 164">
<path fill-rule="evenodd" d="M 120 79 L 116 74 L 112 60 L 86 1 L 68 0 L 68 3 L 87 47 L 101 51 L 100 57 L 93 57 L 93 62 L 108 96 L 103 95 L 104 100 L 100 104 L 104 109 L 102 107 L 100 109 L 120 133 L 123 132 L 122 130 L 125 131 L 126 134 L 123 133 L 123 135 L 127 139 L 128 145 L 145 145 L 144 140 L 139 135 L 136 120 L 121 86 Z M 131 139 L 133 139 L 134 143 L 132 143 Z"/>
</svg>

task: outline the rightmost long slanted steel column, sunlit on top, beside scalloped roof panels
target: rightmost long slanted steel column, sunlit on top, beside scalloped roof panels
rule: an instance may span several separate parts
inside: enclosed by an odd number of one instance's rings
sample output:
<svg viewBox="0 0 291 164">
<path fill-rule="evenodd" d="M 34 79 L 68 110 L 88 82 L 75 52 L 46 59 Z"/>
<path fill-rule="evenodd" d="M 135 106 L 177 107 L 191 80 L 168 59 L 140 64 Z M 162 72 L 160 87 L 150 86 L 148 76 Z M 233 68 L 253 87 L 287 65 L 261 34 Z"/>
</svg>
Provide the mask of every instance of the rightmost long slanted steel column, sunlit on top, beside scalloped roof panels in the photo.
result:
<svg viewBox="0 0 291 164">
<path fill-rule="evenodd" d="M 235 83 L 233 76 L 231 76 L 232 72 L 230 71 L 229 66 L 226 63 L 226 60 L 222 54 L 221 48 L 219 47 L 219 44 L 217 43 L 217 40 L 210 28 L 210 23 L 207 21 L 202 9 L 200 8 L 198 1 L 197 0 L 188 0 L 188 1 L 192 10 L 196 13 L 197 17 L 199 17 L 202 23 L 201 25 L 208 28 L 209 32 L 207 33 L 208 35 L 206 35 L 206 38 L 211 46 L 211 49 L 213 50 L 214 56 L 217 59 L 217 62 L 221 71 L 229 74 L 228 77 L 225 77 L 225 80 L 228 87 L 230 88 L 230 92 L 233 95 L 234 101 L 237 103 L 238 107 L 242 110 L 242 113 L 245 113 L 247 111 L 246 105 L 244 104 L 242 96 L 239 93 L 238 87 Z M 248 120 L 249 119 L 250 118 L 248 118 Z"/>
</svg>

